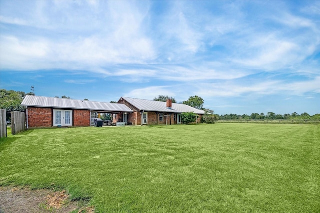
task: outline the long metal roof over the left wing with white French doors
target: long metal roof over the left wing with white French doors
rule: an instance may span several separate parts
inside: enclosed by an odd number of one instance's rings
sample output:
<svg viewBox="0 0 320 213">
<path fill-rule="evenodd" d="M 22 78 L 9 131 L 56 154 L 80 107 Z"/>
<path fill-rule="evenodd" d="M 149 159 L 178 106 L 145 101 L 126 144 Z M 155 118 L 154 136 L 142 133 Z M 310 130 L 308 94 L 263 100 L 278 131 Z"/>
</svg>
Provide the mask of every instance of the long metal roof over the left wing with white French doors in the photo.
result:
<svg viewBox="0 0 320 213">
<path fill-rule="evenodd" d="M 21 105 L 33 107 L 90 109 L 105 112 L 132 112 L 132 110 L 124 104 L 82 101 L 69 98 L 52 98 L 35 95 L 26 95 Z"/>
</svg>

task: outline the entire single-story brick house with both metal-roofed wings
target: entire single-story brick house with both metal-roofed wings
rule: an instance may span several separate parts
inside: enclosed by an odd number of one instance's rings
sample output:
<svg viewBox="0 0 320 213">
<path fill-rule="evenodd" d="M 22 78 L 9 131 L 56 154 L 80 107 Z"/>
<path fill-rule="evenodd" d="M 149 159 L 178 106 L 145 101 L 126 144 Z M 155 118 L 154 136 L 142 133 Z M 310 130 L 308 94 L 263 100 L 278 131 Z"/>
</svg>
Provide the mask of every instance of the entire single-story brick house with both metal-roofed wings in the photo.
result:
<svg viewBox="0 0 320 213">
<path fill-rule="evenodd" d="M 21 103 L 25 106 L 26 128 L 55 126 L 93 126 L 98 113 L 113 114 L 113 122 L 130 125 L 180 124 L 181 113 L 198 114 L 199 123 L 203 110 L 185 104 L 121 97 L 117 103 L 74 100 L 26 95 Z"/>
</svg>

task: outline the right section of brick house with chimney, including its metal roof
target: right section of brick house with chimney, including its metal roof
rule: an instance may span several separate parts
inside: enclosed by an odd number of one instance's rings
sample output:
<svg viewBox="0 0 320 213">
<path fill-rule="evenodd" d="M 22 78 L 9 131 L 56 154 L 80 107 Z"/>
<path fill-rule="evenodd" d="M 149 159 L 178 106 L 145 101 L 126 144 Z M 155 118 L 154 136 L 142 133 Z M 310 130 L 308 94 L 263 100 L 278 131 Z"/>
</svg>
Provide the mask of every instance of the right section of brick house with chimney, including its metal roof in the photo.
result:
<svg viewBox="0 0 320 213">
<path fill-rule="evenodd" d="M 170 99 L 163 102 L 121 97 L 117 103 L 124 104 L 132 110 L 132 113 L 118 113 L 117 119 L 125 123 L 131 123 L 132 125 L 157 125 L 165 124 L 166 122 L 168 125 L 180 124 L 180 115 L 183 112 L 194 112 L 198 114 L 197 122 L 199 123 L 204 114 L 203 110 L 195 109 L 185 104 L 172 103 Z M 168 119 L 167 121 L 166 117 Z"/>
</svg>

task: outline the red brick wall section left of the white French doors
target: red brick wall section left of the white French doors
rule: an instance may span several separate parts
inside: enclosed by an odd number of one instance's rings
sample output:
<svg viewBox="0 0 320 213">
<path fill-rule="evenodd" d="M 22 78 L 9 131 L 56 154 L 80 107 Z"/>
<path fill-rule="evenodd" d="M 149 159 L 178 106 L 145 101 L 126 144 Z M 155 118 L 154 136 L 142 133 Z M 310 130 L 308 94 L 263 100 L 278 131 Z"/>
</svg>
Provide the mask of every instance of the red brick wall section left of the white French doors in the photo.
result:
<svg viewBox="0 0 320 213">
<path fill-rule="evenodd" d="M 28 107 L 28 127 L 52 126 L 52 109 L 42 107 Z"/>
</svg>

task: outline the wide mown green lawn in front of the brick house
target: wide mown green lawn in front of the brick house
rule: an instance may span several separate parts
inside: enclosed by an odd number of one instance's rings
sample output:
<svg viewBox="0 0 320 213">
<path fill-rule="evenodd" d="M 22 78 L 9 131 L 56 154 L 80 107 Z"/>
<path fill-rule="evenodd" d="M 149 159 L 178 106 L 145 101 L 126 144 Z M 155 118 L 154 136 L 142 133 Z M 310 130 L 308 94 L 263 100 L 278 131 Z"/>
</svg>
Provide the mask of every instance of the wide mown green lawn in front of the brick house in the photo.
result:
<svg viewBox="0 0 320 213">
<path fill-rule="evenodd" d="M 34 129 L 0 140 L 0 185 L 96 212 L 320 212 L 320 125 Z"/>
</svg>

